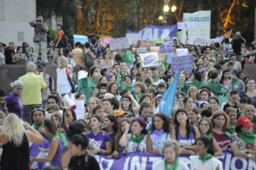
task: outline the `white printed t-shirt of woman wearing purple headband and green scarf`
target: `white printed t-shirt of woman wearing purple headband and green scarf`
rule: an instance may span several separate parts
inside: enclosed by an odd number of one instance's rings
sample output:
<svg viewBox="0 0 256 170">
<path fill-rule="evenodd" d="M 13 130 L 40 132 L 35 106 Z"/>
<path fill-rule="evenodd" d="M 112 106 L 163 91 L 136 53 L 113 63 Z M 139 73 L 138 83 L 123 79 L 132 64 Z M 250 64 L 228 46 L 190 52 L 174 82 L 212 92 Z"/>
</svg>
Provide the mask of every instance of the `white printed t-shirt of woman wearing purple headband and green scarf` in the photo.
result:
<svg viewBox="0 0 256 170">
<path fill-rule="evenodd" d="M 127 136 L 130 138 L 132 134 L 127 134 Z M 129 141 L 127 146 L 125 147 L 125 150 L 127 150 L 127 153 L 131 152 L 146 152 L 147 151 L 147 135 L 144 135 L 143 140 L 141 143 L 135 143 L 132 141 Z"/>
</svg>

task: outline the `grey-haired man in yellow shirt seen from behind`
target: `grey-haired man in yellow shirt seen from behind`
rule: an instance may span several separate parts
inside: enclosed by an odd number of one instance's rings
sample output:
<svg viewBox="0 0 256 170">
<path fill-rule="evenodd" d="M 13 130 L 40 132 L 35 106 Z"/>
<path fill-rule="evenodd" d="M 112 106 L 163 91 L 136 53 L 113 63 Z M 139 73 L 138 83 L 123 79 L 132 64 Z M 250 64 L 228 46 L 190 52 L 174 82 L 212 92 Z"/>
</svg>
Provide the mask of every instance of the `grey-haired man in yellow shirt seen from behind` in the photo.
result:
<svg viewBox="0 0 256 170">
<path fill-rule="evenodd" d="M 37 74 L 37 75 L 36 75 Z M 24 83 L 21 95 L 23 108 L 23 121 L 31 122 L 31 109 L 34 105 L 42 104 L 41 89 L 47 90 L 44 79 L 38 75 L 36 65 L 31 62 L 27 65 L 27 74 L 19 78 Z"/>
</svg>

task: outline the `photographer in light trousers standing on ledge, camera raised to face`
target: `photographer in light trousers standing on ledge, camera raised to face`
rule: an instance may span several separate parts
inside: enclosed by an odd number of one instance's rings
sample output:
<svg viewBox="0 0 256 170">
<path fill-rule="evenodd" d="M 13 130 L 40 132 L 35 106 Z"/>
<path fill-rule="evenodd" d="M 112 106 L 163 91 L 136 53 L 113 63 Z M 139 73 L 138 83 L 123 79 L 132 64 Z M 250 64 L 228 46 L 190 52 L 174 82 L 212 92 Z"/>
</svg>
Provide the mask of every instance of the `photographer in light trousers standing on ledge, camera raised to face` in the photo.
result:
<svg viewBox="0 0 256 170">
<path fill-rule="evenodd" d="M 38 62 L 38 53 L 41 45 L 42 61 L 47 62 L 47 32 L 48 26 L 44 23 L 44 18 L 38 16 L 35 20 L 29 22 L 31 27 L 35 28 L 34 34 L 34 58 L 33 62 Z"/>
</svg>

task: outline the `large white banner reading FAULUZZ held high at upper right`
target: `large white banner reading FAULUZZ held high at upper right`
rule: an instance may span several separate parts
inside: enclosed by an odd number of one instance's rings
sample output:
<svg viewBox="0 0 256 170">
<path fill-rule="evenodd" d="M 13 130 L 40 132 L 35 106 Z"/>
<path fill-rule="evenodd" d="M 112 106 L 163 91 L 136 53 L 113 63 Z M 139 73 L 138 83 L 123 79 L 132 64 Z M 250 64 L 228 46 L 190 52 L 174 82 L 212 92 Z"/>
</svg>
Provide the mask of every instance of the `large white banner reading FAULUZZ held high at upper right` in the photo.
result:
<svg viewBox="0 0 256 170">
<path fill-rule="evenodd" d="M 205 37 L 210 39 L 211 34 L 211 11 L 198 11 L 193 14 L 184 13 L 182 22 L 195 22 L 197 29 L 188 29 L 188 41 L 187 43 L 193 44 L 194 40 L 198 37 Z M 186 42 L 186 29 L 181 30 L 182 43 Z"/>
</svg>

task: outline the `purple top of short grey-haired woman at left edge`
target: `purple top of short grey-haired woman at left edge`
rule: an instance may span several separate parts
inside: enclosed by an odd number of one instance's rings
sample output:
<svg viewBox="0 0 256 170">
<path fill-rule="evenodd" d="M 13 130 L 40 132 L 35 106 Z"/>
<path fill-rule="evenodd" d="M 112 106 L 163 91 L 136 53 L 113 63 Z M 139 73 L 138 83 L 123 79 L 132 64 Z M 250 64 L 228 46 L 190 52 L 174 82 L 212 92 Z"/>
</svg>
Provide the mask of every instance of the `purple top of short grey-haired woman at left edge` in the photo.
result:
<svg viewBox="0 0 256 170">
<path fill-rule="evenodd" d="M 5 98 L 5 102 L 6 102 L 6 106 L 8 108 L 9 113 L 14 113 L 19 118 L 22 118 L 23 104 L 21 102 L 21 96 L 16 96 L 14 92 L 11 92 Z"/>
</svg>

